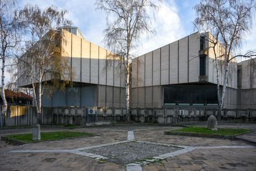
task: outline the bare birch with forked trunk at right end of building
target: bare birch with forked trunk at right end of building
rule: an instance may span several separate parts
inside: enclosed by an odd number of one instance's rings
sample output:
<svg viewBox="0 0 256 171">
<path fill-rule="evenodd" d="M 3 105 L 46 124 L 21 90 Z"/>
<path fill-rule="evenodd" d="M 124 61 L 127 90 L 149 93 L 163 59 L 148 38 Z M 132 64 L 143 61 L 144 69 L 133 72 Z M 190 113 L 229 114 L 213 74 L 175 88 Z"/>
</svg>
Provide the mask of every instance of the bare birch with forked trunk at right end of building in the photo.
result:
<svg viewBox="0 0 256 171">
<path fill-rule="evenodd" d="M 255 57 L 255 51 L 249 50 L 244 55 L 236 55 L 242 47 L 244 35 L 252 29 L 252 17 L 255 10 L 254 0 L 201 0 L 194 6 L 196 19 L 194 24 L 199 30 L 210 31 L 206 36 L 209 49 L 214 51 L 214 63 L 217 71 L 218 119 L 221 117 L 226 86 L 228 83 L 231 62 L 235 58 Z M 221 47 L 222 50 L 217 50 Z M 220 89 L 220 79 L 223 86 Z"/>
</svg>

